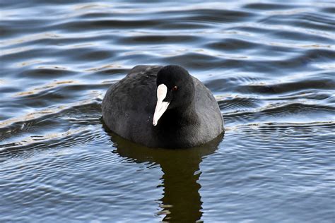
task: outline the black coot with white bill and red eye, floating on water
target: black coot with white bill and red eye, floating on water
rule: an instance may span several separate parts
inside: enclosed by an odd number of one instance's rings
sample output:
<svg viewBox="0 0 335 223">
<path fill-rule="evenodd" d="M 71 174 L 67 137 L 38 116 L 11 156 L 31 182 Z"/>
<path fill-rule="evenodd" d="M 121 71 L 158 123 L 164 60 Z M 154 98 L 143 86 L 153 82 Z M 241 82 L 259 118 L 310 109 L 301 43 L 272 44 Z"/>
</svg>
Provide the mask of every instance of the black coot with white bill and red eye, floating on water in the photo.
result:
<svg viewBox="0 0 335 223">
<path fill-rule="evenodd" d="M 117 135 L 147 147 L 193 147 L 223 133 L 211 92 L 181 66 L 135 66 L 111 85 L 102 119 Z"/>
</svg>

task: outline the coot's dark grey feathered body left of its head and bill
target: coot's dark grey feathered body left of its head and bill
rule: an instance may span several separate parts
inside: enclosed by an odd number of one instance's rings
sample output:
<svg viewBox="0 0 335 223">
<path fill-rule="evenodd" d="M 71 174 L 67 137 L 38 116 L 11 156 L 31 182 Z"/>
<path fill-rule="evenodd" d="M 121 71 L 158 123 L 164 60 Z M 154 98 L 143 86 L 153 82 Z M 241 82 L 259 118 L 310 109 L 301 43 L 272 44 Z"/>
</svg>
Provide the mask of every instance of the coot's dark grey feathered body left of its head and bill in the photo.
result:
<svg viewBox="0 0 335 223">
<path fill-rule="evenodd" d="M 148 135 L 153 134 L 156 77 L 160 68 L 135 66 L 107 90 L 102 101 L 102 117 L 110 130 L 136 143 L 149 140 Z"/>
</svg>

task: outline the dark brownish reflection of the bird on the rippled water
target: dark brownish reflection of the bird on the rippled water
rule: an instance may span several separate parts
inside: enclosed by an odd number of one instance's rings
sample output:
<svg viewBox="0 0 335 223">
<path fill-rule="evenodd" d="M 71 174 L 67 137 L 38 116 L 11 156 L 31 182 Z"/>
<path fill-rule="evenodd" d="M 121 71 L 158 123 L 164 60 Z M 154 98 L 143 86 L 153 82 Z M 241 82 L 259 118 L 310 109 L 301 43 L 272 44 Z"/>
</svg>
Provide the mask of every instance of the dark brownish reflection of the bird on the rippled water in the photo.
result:
<svg viewBox="0 0 335 223">
<path fill-rule="evenodd" d="M 221 142 L 223 135 L 201 147 L 167 150 L 136 145 L 128 140 L 108 133 L 121 157 L 134 162 L 151 162 L 159 164 L 163 176 L 163 198 L 160 198 L 160 212 L 163 222 L 196 222 L 201 219 L 201 195 L 199 189 L 199 164 L 206 155 L 213 153 Z"/>
</svg>

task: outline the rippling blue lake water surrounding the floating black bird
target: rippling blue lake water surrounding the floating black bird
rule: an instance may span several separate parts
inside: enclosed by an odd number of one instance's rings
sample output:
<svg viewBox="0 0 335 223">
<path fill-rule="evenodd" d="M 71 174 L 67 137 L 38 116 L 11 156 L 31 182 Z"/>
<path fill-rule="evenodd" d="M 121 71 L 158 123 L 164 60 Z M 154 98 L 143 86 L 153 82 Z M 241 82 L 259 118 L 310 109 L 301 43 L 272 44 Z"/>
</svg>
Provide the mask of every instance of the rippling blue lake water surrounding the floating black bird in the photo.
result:
<svg viewBox="0 0 335 223">
<path fill-rule="evenodd" d="M 334 222 L 334 1 L 0 2 L 0 222 Z M 138 64 L 199 78 L 224 137 L 107 133 Z"/>
</svg>

